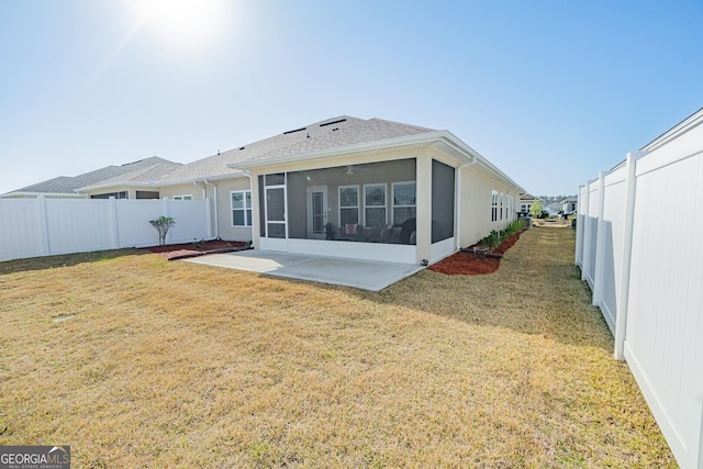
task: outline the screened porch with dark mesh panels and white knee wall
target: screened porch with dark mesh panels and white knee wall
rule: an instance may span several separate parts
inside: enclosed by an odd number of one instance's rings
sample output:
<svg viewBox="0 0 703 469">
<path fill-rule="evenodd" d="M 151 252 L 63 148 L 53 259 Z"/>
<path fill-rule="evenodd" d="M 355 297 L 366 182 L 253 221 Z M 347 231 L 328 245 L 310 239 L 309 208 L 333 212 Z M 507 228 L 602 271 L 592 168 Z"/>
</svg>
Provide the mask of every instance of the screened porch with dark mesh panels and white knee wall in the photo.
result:
<svg viewBox="0 0 703 469">
<path fill-rule="evenodd" d="M 435 159 L 266 172 L 256 180 L 261 249 L 408 264 L 454 249 L 455 168 Z M 428 244 L 435 248 L 419 255 L 419 245 Z"/>
</svg>

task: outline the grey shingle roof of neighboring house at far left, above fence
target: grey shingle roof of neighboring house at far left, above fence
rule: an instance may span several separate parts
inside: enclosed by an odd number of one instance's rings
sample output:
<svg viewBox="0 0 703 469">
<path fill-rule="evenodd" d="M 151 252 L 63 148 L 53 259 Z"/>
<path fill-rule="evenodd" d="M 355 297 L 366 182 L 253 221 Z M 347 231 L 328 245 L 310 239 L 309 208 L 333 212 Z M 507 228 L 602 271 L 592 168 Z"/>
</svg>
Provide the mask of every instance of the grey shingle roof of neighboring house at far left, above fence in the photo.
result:
<svg viewBox="0 0 703 469">
<path fill-rule="evenodd" d="M 85 172 L 78 176 L 59 176 L 57 178 L 48 179 L 46 181 L 37 182 L 32 186 L 24 187 L 22 189 L 14 190 L 4 194 L 5 197 L 25 194 L 25 196 L 38 196 L 38 194 L 66 194 L 76 196 L 76 190 L 97 185 L 102 181 L 111 180 L 137 171 L 148 171 L 156 167 L 181 166 L 179 163 L 168 161 L 166 159 L 153 156 L 138 161 L 127 163 L 121 166 L 107 166 L 104 168 L 96 169 L 93 171 Z M 172 169 L 171 169 L 172 170 Z"/>
</svg>

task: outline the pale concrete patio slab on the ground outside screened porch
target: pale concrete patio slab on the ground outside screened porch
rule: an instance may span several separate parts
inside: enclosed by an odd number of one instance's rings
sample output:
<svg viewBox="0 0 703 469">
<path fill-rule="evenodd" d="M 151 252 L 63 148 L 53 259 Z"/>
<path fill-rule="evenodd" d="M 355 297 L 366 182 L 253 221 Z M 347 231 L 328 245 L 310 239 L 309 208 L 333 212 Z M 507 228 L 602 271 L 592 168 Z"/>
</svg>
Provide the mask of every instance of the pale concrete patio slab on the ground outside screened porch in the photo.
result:
<svg viewBox="0 0 703 469">
<path fill-rule="evenodd" d="M 183 259 L 183 261 L 248 270 L 298 280 L 339 284 L 368 291 L 380 291 L 424 269 L 422 266 L 410 264 L 276 253 L 270 250 L 243 250 L 238 253 L 212 254 Z"/>
</svg>

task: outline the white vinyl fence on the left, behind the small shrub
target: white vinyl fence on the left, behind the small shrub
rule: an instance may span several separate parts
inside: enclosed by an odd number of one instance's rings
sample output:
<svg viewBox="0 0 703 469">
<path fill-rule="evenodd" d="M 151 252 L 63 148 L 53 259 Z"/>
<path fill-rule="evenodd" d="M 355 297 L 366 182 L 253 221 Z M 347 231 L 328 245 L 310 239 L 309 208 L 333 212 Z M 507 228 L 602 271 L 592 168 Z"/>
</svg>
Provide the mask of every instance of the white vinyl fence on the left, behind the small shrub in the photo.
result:
<svg viewBox="0 0 703 469">
<path fill-rule="evenodd" d="M 211 237 L 210 201 L 0 199 L 0 261 L 158 244 L 149 221 L 171 216 L 167 244 Z"/>
</svg>

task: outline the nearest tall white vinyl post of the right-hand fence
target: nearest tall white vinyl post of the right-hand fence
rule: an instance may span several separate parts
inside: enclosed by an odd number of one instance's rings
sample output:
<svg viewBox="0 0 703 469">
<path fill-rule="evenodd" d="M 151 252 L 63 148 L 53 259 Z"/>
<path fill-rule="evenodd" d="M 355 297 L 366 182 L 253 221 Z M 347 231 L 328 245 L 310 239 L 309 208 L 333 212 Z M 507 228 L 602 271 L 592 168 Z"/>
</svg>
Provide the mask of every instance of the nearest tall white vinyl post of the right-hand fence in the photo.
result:
<svg viewBox="0 0 703 469">
<path fill-rule="evenodd" d="M 625 233 L 623 236 L 623 269 L 620 282 L 620 295 L 617 300 L 617 314 L 615 316 L 615 359 L 625 359 L 625 338 L 627 331 L 627 305 L 629 299 L 629 271 L 633 257 L 633 226 L 635 224 L 635 199 L 637 196 L 637 160 L 649 152 L 631 152 L 627 154 L 627 176 L 625 179 L 626 205 L 625 205 Z"/>
</svg>

